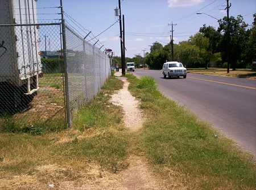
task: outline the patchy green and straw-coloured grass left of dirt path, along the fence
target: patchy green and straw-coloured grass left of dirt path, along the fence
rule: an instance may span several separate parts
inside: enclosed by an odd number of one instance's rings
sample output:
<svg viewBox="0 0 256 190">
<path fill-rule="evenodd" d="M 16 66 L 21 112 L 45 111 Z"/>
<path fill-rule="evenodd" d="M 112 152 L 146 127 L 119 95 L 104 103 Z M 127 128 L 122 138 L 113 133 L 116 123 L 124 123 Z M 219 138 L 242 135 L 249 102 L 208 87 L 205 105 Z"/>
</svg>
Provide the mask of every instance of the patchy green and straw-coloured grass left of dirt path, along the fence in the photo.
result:
<svg viewBox="0 0 256 190">
<path fill-rule="evenodd" d="M 122 110 L 109 102 L 121 86 L 110 77 L 96 98 L 72 115 L 71 129 L 45 123 L 20 130 L 7 118 L 0 133 L 0 189 L 41 189 L 63 181 L 79 186 L 106 171 L 124 170 L 129 146 Z"/>
</svg>

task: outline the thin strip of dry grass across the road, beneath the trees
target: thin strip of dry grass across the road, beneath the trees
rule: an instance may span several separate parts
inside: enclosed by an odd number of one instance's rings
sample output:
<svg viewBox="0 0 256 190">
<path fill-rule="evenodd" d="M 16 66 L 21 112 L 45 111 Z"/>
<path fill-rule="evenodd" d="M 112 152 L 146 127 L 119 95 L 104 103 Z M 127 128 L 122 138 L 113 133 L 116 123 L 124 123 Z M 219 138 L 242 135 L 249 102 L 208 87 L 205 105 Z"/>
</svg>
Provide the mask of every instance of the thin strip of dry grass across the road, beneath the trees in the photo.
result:
<svg viewBox="0 0 256 190">
<path fill-rule="evenodd" d="M 223 68 L 197 68 L 197 69 L 188 69 L 189 73 L 196 73 L 201 75 L 216 75 L 216 76 L 226 76 L 226 77 L 236 77 L 236 78 L 244 78 L 244 79 L 256 79 L 256 72 L 251 71 L 249 69 L 237 69 L 233 71 L 230 69 L 229 73 L 227 73 L 226 69 Z"/>
</svg>

